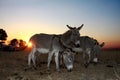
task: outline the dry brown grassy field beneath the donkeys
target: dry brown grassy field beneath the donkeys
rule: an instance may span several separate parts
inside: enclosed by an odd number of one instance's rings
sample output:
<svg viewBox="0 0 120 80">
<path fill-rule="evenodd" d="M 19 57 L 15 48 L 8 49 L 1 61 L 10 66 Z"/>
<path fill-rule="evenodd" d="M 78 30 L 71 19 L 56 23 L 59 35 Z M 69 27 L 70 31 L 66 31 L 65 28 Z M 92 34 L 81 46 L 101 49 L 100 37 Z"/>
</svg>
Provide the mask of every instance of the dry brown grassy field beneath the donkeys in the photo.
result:
<svg viewBox="0 0 120 80">
<path fill-rule="evenodd" d="M 83 66 L 82 54 L 75 56 L 74 69 L 68 72 L 55 70 L 54 61 L 47 71 L 47 55 L 40 55 L 37 70 L 27 69 L 29 50 L 18 52 L 0 51 L 0 80 L 120 80 L 120 51 L 102 51 L 97 65 Z"/>
</svg>

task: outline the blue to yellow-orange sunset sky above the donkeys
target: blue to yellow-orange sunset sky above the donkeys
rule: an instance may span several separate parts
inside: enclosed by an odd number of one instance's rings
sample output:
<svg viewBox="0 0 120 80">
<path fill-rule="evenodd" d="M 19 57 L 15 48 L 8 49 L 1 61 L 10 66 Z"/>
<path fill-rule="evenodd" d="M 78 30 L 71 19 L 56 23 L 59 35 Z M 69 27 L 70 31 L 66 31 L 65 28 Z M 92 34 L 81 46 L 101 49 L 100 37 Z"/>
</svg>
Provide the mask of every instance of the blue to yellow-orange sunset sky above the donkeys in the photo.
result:
<svg viewBox="0 0 120 80">
<path fill-rule="evenodd" d="M 0 28 L 28 41 L 36 33 L 62 34 L 79 27 L 105 47 L 120 47 L 120 0 L 0 0 Z"/>
</svg>

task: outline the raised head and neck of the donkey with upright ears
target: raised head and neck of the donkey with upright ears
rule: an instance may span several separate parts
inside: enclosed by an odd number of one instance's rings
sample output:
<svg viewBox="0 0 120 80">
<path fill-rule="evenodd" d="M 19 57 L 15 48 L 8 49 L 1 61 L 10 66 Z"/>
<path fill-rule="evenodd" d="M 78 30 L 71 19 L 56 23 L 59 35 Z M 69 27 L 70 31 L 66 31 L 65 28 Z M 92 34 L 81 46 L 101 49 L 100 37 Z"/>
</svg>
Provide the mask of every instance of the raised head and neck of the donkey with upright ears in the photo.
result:
<svg viewBox="0 0 120 80">
<path fill-rule="evenodd" d="M 67 27 L 69 28 L 69 30 L 62 35 L 61 39 L 65 45 L 73 47 L 73 45 L 79 44 L 79 30 L 83 27 L 83 24 L 78 28 L 71 27 L 69 25 L 67 25 Z"/>
</svg>

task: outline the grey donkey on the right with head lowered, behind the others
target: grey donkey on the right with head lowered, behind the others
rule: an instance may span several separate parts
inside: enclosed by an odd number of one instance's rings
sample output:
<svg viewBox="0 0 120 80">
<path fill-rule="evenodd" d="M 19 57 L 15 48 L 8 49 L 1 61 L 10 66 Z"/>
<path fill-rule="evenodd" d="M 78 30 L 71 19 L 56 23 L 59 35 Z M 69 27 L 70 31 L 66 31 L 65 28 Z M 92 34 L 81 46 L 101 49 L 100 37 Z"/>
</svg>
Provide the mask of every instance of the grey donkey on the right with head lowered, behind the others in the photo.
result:
<svg viewBox="0 0 120 80">
<path fill-rule="evenodd" d="M 98 62 L 98 54 L 101 51 L 101 48 L 105 45 L 104 42 L 101 44 L 98 43 L 96 39 L 93 39 L 89 36 L 81 36 L 79 38 L 80 46 L 72 48 L 75 52 L 83 52 L 83 59 L 85 67 L 88 67 L 90 62 Z"/>
</svg>

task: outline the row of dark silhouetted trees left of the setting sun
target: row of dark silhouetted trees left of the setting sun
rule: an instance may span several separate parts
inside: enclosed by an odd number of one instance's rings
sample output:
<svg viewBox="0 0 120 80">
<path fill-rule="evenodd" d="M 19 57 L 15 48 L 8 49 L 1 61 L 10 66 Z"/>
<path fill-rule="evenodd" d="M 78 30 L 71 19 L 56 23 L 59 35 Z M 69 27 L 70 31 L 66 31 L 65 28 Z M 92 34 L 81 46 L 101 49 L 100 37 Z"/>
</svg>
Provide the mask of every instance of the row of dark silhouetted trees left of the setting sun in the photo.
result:
<svg viewBox="0 0 120 80">
<path fill-rule="evenodd" d="M 26 48 L 26 42 L 22 39 L 12 39 L 8 44 L 5 44 L 7 40 L 7 32 L 4 29 L 0 29 L 0 50 L 3 51 L 19 51 Z"/>
</svg>

